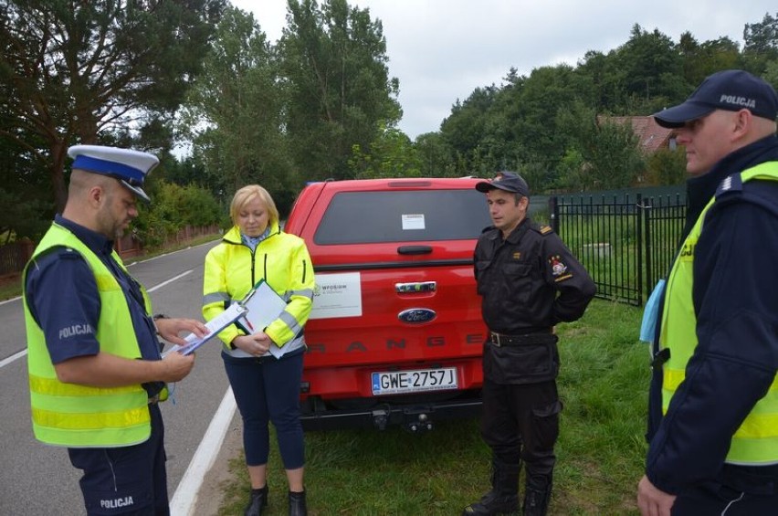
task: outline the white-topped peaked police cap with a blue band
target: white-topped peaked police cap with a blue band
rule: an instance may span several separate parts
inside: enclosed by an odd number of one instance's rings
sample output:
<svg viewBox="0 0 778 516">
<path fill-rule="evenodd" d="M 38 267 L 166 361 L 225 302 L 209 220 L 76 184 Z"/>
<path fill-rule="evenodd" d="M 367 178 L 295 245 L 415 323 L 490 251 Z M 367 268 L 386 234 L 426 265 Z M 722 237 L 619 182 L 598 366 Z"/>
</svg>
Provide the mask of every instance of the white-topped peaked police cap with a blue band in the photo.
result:
<svg viewBox="0 0 778 516">
<path fill-rule="evenodd" d="M 118 179 L 144 201 L 151 199 L 143 192 L 143 181 L 160 161 L 150 153 L 103 145 L 73 145 L 68 149 L 72 168 Z"/>
</svg>

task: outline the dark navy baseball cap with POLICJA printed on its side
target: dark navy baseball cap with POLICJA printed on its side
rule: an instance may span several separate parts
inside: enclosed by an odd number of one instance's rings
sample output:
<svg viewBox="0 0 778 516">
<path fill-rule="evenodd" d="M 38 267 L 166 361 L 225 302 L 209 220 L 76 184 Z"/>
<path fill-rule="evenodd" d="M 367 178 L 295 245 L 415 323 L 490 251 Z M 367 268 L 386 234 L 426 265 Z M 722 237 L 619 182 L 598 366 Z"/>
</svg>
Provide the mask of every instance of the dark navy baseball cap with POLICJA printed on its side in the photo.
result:
<svg viewBox="0 0 778 516">
<path fill-rule="evenodd" d="M 692 120 L 713 111 L 741 111 L 775 120 L 778 115 L 778 94 L 764 79 L 743 70 L 723 70 L 708 76 L 683 104 L 654 113 L 662 127 L 683 127 Z"/>
</svg>

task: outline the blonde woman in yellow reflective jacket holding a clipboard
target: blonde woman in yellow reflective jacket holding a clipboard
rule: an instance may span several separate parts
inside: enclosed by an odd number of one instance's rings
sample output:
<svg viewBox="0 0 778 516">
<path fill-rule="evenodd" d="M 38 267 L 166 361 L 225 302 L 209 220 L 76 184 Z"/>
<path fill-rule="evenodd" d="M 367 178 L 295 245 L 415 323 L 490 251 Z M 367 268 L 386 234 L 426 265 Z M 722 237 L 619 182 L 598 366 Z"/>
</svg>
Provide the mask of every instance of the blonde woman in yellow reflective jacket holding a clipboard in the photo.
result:
<svg viewBox="0 0 778 516">
<path fill-rule="evenodd" d="M 247 334 L 232 325 L 219 333 L 226 374 L 243 418 L 243 446 L 251 480 L 245 514 L 258 516 L 268 505 L 268 423 L 272 422 L 289 482 L 289 515 L 305 515 L 299 396 L 306 349 L 303 326 L 310 314 L 314 287 L 310 255 L 300 237 L 281 231 L 276 204 L 257 184 L 237 191 L 230 217 L 234 226 L 205 257 L 205 319 L 213 319 L 243 299 L 260 279 L 287 301 L 286 309 L 264 329 Z M 277 359 L 268 351 L 271 345 L 287 353 Z"/>
</svg>

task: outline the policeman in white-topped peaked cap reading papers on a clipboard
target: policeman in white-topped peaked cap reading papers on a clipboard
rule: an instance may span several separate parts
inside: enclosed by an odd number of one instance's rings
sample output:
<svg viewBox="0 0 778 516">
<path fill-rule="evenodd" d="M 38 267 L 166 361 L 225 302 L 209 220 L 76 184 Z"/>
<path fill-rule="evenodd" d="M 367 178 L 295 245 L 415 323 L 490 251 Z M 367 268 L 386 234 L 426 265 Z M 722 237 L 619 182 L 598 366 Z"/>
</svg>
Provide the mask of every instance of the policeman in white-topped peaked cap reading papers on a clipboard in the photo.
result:
<svg viewBox="0 0 778 516">
<path fill-rule="evenodd" d="M 76 145 L 68 202 L 24 271 L 33 431 L 68 448 L 83 471 L 88 514 L 169 514 L 163 421 L 166 382 L 194 355 L 160 355 L 158 335 L 203 337 L 194 319 L 152 317 L 151 302 L 113 249 L 138 216 L 152 154 Z M 73 513 L 63 508 L 63 513 Z"/>
</svg>

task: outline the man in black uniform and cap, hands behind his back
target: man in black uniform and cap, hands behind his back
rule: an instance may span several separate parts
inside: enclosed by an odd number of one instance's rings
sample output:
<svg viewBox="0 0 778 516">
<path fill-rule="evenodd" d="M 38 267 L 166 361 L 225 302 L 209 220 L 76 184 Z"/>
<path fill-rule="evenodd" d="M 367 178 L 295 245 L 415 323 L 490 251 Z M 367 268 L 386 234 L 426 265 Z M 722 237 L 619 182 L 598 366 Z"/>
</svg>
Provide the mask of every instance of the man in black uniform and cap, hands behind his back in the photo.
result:
<svg viewBox="0 0 778 516">
<path fill-rule="evenodd" d="M 562 410 L 554 326 L 584 315 L 594 281 L 551 227 L 527 217 L 530 188 L 519 174 L 503 172 L 476 188 L 486 194 L 494 223 L 475 251 L 481 311 L 489 327 L 481 435 L 492 450 L 492 489 L 463 514 L 516 511 L 523 460 L 523 511 L 539 516 L 551 499 Z"/>
</svg>

